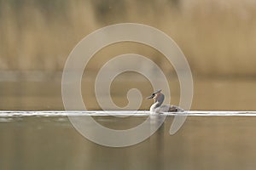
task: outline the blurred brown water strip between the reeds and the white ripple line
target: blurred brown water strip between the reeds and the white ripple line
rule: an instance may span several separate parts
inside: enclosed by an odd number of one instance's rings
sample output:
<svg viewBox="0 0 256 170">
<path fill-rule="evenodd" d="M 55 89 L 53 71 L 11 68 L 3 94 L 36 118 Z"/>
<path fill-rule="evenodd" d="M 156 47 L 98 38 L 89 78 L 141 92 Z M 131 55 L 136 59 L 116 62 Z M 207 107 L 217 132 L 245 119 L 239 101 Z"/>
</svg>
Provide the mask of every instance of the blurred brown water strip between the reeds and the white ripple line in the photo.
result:
<svg viewBox="0 0 256 170">
<path fill-rule="evenodd" d="M 172 104 L 178 105 L 178 81 L 169 82 L 172 93 Z M 211 111 L 256 111 L 256 79 L 196 79 L 194 78 L 194 97 L 192 110 Z M 127 105 L 126 93 L 131 88 L 138 88 L 143 97 L 153 91 L 150 83 L 124 81 L 113 82 L 111 93 L 113 102 L 120 107 Z M 100 110 L 95 96 L 94 79 L 82 82 L 82 94 L 88 110 Z M 102 96 L 104 98 L 105 96 Z M 148 110 L 152 101 L 143 100 L 140 110 Z M 40 82 L 1 82 L 0 81 L 0 110 L 45 111 L 64 110 L 61 98 L 61 77 L 58 80 Z"/>
</svg>

